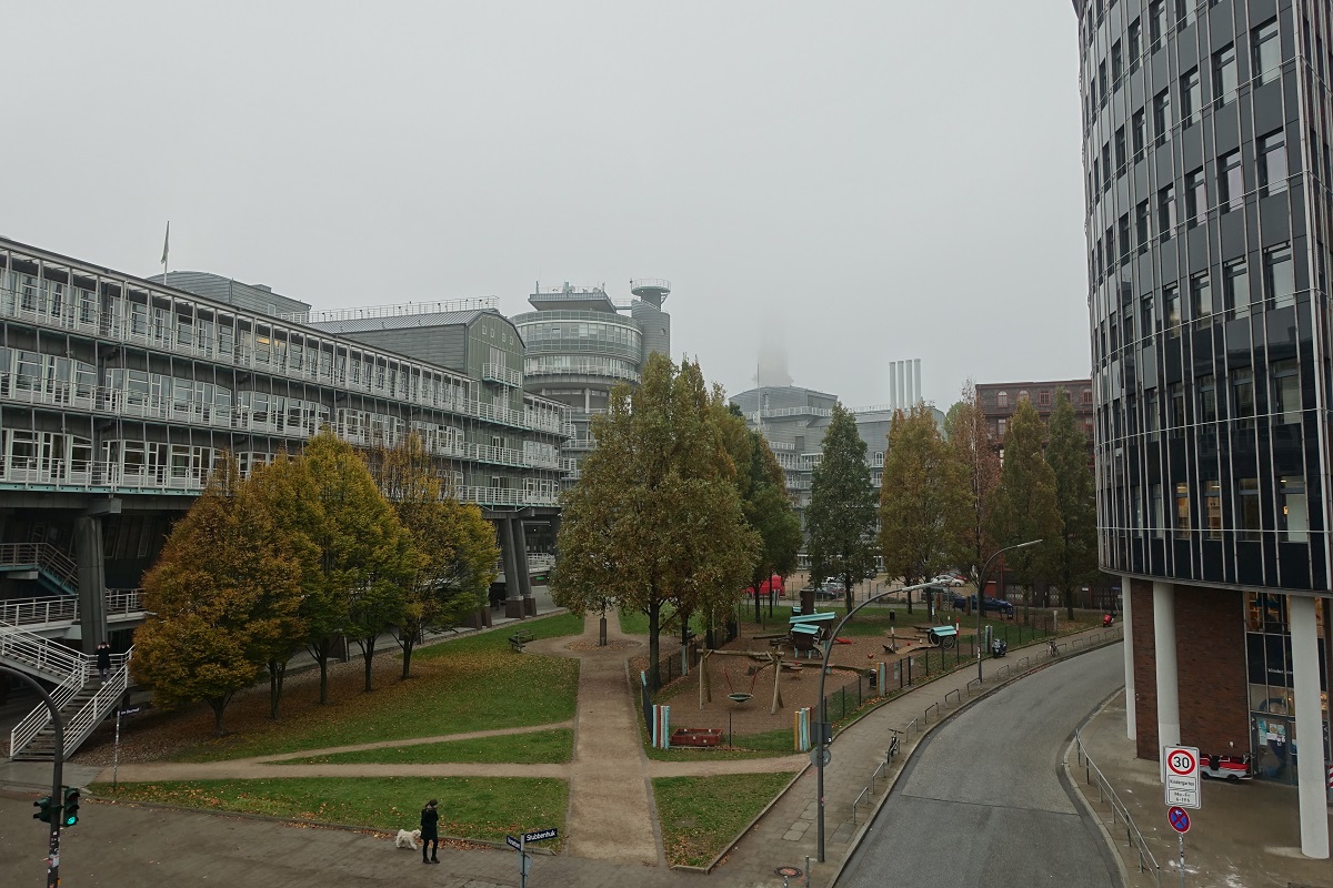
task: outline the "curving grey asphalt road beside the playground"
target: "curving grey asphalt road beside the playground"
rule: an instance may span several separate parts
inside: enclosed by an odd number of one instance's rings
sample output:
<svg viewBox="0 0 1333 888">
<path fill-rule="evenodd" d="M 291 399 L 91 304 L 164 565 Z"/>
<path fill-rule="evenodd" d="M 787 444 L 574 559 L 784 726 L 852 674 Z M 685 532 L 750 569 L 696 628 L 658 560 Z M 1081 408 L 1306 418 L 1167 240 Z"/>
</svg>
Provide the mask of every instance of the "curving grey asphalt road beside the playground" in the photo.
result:
<svg viewBox="0 0 1333 888">
<path fill-rule="evenodd" d="M 840 888 L 1120 885 L 1060 762 L 1074 728 L 1124 680 L 1124 654 L 1113 644 L 1014 682 L 938 728 L 898 779 Z"/>
</svg>

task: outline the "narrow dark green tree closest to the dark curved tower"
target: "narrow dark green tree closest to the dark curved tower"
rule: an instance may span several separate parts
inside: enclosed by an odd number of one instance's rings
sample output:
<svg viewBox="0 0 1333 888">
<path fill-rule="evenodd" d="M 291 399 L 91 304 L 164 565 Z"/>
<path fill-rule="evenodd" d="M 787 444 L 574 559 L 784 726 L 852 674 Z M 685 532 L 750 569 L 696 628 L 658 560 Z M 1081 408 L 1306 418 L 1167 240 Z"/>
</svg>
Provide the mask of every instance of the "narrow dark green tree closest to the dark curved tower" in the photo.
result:
<svg viewBox="0 0 1333 888">
<path fill-rule="evenodd" d="M 1064 533 L 1056 538 L 1052 580 L 1074 616 L 1074 590 L 1097 575 L 1097 491 L 1088 459 L 1088 437 L 1080 427 L 1069 394 L 1056 391 L 1048 425 L 1046 462 L 1056 478 L 1056 511 Z"/>
</svg>

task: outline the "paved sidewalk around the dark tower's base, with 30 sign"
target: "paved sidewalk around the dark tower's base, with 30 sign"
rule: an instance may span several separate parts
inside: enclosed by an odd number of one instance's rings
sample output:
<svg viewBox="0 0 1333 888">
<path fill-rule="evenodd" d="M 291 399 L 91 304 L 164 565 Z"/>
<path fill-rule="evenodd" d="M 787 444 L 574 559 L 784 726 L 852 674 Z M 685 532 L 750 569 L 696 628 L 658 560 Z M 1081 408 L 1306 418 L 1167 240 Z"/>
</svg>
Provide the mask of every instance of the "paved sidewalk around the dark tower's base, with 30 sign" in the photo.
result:
<svg viewBox="0 0 1333 888">
<path fill-rule="evenodd" d="M 1101 817 L 1125 863 L 1125 885 L 1157 887 L 1153 873 L 1138 872 L 1138 853 L 1125 841 L 1120 816 L 1110 824 L 1110 804 L 1100 799 L 1100 770 L 1161 869 L 1161 884 L 1178 883 L 1178 841 L 1166 823 L 1166 803 L 1158 764 L 1134 758 L 1134 742 L 1125 736 L 1125 694 L 1121 691 L 1080 731 L 1093 767 L 1072 748 L 1066 759 L 1070 780 L 1089 808 Z M 1090 780 L 1090 781 L 1089 781 Z M 1296 787 L 1264 780 L 1238 784 L 1204 780 L 1202 807 L 1190 812 L 1185 836 L 1185 879 L 1189 888 L 1333 888 L 1333 864 L 1301 855 L 1301 825 Z M 1333 825 L 1333 813 L 1330 813 Z M 1150 869 L 1150 864 L 1149 864 Z"/>
</svg>

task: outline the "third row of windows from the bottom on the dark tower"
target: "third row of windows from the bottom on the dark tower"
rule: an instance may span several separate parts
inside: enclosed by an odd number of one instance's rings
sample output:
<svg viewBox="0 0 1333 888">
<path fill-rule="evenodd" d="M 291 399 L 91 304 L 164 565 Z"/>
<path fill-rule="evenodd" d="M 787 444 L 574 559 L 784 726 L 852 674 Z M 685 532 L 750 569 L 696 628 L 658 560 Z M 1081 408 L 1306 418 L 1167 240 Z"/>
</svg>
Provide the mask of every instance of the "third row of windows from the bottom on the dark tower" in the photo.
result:
<svg viewBox="0 0 1333 888">
<path fill-rule="evenodd" d="M 1177 337 L 1188 322 L 1236 320 L 1249 316 L 1260 306 L 1273 310 L 1293 305 L 1297 290 L 1290 244 L 1264 250 L 1261 261 L 1262 277 L 1258 278 L 1258 288 L 1250 281 L 1249 260 L 1241 258 L 1222 265 L 1221 280 L 1216 286 L 1210 270 L 1162 286 L 1161 314 L 1157 313 L 1157 298 L 1153 293 L 1138 301 L 1137 318 L 1132 305 L 1118 313 L 1113 306 L 1108 306 L 1094 334 L 1097 359 L 1105 363 L 1121 347 L 1140 339 L 1150 341 L 1158 332 Z M 1184 314 L 1186 298 L 1188 316 Z"/>
</svg>

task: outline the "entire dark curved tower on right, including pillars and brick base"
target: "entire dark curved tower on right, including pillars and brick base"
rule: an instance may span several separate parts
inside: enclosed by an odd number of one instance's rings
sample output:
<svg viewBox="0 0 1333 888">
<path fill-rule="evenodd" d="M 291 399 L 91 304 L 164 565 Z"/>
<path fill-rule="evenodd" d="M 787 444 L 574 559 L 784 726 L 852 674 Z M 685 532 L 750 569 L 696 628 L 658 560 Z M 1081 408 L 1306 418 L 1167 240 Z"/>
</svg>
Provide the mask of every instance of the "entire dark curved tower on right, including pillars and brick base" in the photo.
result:
<svg viewBox="0 0 1333 888">
<path fill-rule="evenodd" d="M 1300 784 L 1302 849 L 1328 856 L 1330 7 L 1074 11 L 1129 735 L 1141 758 L 1249 751 Z"/>
</svg>

